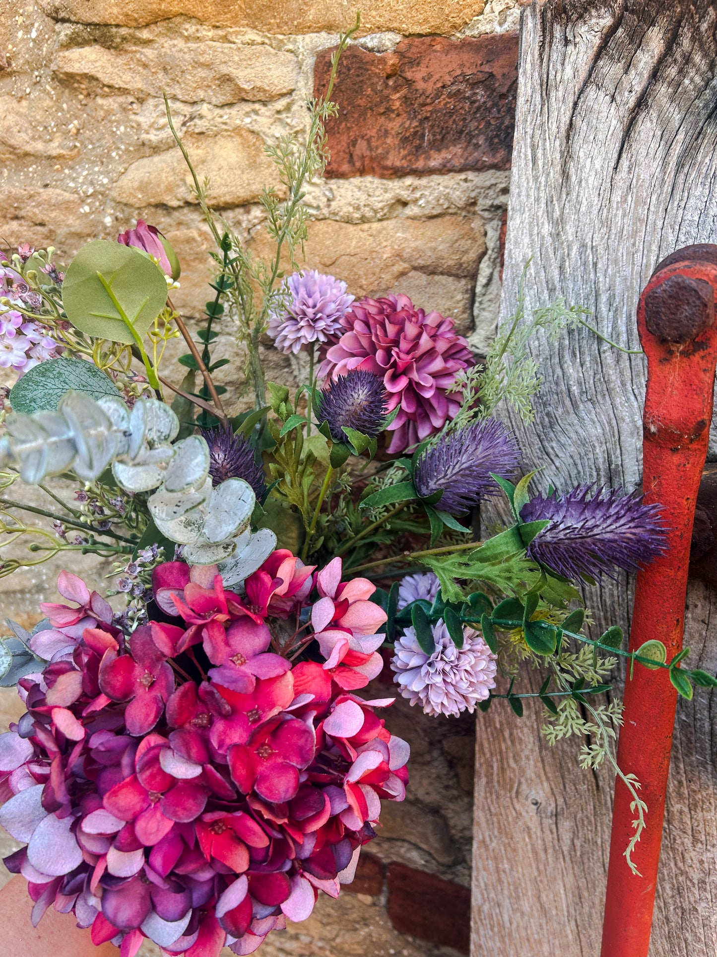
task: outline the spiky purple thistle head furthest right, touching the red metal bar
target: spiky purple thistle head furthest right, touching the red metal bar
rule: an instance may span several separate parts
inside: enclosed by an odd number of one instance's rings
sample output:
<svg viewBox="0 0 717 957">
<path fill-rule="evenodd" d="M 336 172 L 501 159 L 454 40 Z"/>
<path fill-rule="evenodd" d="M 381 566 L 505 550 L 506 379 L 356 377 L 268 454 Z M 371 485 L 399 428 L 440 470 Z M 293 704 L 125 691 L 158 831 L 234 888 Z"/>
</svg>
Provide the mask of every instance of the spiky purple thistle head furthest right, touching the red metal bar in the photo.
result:
<svg viewBox="0 0 717 957">
<path fill-rule="evenodd" d="M 591 493 L 592 498 L 589 498 Z M 532 559 L 565 578 L 602 575 L 615 578 L 615 568 L 637 571 L 666 547 L 663 509 L 647 505 L 640 493 L 578 485 L 567 495 L 554 492 L 525 504 L 524 522 L 548 520 L 528 548 Z"/>
</svg>

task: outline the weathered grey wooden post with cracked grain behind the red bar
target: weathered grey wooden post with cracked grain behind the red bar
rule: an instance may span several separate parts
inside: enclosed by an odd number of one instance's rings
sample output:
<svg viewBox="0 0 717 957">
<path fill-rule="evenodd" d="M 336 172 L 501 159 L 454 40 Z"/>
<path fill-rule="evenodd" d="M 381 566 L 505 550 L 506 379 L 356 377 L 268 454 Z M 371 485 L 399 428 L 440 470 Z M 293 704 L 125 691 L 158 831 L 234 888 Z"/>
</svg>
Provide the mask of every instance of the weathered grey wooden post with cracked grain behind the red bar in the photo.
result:
<svg viewBox="0 0 717 957">
<path fill-rule="evenodd" d="M 548 0 L 523 12 L 502 313 L 526 262 L 527 305 L 564 296 L 610 339 L 638 348 L 641 289 L 664 256 L 717 242 L 717 11 L 708 0 Z M 645 362 L 586 330 L 532 345 L 543 387 L 534 425 L 511 416 L 526 468 L 558 488 L 641 482 Z M 598 626 L 629 624 L 630 588 L 586 590 Z M 717 670 L 717 602 L 690 583 L 691 664 Z M 537 688 L 535 688 L 537 690 Z M 717 948 L 717 733 L 709 693 L 681 701 L 650 957 Z M 491 708 L 477 726 L 473 957 L 596 957 L 613 781 L 576 746 Z"/>
</svg>

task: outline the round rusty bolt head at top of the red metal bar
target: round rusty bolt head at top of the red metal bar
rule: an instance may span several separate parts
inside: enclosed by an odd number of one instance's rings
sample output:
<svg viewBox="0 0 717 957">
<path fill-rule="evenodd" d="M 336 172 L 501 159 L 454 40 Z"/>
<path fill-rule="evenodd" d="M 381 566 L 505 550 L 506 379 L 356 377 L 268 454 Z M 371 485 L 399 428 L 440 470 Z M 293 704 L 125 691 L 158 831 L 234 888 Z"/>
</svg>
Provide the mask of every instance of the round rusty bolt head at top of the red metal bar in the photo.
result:
<svg viewBox="0 0 717 957">
<path fill-rule="evenodd" d="M 705 279 L 671 276 L 644 300 L 648 330 L 668 343 L 687 343 L 714 324 L 714 293 Z"/>
</svg>

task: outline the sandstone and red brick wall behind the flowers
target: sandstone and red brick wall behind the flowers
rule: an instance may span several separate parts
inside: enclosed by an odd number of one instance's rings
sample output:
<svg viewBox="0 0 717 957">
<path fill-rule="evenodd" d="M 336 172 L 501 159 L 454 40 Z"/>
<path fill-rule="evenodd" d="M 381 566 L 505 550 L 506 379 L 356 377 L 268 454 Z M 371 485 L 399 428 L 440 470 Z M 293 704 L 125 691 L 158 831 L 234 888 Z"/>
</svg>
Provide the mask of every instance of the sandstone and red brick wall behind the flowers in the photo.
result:
<svg viewBox="0 0 717 957">
<path fill-rule="evenodd" d="M 307 265 L 357 296 L 402 291 L 452 315 L 483 352 L 508 201 L 516 2 L 358 6 L 329 126 L 334 159 L 308 190 Z M 0 0 L 0 240 L 53 244 L 66 263 L 86 240 L 144 218 L 177 249 L 175 304 L 196 319 L 209 234 L 163 91 L 211 203 L 261 254 L 257 201 L 275 179 L 264 146 L 306 129 L 307 97 L 323 91 L 354 15 L 346 0 Z M 218 354 L 235 361 L 218 378 L 233 412 L 250 396 L 230 321 L 222 333 Z M 268 345 L 265 356 L 270 378 L 292 381 L 284 357 Z M 0 579 L 2 617 L 38 617 L 57 568 Z M 88 558 L 81 570 L 99 583 L 108 569 Z M 11 693 L 0 708 L 4 730 L 17 713 Z M 272 935 L 264 957 L 467 952 L 473 721 L 428 719 L 400 700 L 388 723 L 413 748 L 406 802 L 386 806 L 349 893 Z"/>
</svg>

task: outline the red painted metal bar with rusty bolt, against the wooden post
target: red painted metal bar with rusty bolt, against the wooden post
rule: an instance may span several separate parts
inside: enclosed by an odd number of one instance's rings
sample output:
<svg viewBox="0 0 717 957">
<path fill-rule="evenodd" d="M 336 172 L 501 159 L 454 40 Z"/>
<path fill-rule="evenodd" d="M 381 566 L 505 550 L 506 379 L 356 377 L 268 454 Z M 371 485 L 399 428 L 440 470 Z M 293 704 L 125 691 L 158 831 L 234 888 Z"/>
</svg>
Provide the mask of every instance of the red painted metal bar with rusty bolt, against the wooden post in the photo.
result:
<svg viewBox="0 0 717 957">
<path fill-rule="evenodd" d="M 666 554 L 638 573 L 630 650 L 663 641 L 670 660 L 681 649 L 687 566 L 697 490 L 705 467 L 717 360 L 717 246 L 668 256 L 642 291 L 638 328 L 647 356 L 642 484 L 645 501 L 663 503 L 670 526 Z M 618 780 L 601 957 L 646 957 L 663 836 L 677 692 L 666 670 L 635 664 L 625 682 L 618 763 L 637 776 L 646 826 L 628 868 L 634 834 L 632 798 Z"/>
</svg>

